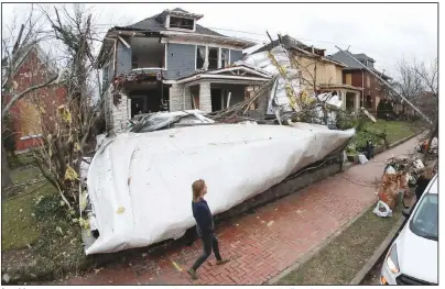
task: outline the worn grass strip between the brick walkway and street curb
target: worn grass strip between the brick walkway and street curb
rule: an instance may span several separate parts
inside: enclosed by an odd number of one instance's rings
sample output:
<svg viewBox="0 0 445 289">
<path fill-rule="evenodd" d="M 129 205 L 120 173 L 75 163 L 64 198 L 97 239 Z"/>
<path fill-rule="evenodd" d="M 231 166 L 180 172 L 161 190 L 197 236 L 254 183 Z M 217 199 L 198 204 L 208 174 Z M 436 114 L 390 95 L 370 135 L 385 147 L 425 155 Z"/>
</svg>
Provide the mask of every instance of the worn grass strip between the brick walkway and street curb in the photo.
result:
<svg viewBox="0 0 445 289">
<path fill-rule="evenodd" d="M 373 207 L 278 285 L 348 285 L 388 236 L 401 216 L 379 218 Z"/>
</svg>

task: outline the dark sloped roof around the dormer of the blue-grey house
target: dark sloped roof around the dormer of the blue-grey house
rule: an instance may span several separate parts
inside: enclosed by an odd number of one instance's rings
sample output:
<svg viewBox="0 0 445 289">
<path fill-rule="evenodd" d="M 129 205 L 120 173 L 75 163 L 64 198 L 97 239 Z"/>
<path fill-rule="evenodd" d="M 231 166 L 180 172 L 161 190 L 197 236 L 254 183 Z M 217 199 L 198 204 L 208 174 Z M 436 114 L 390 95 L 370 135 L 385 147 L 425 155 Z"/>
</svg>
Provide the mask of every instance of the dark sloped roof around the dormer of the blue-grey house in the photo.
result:
<svg viewBox="0 0 445 289">
<path fill-rule="evenodd" d="M 192 14 L 188 11 L 185 11 L 181 8 L 175 8 L 172 10 L 173 12 L 181 12 L 185 14 Z M 165 31 L 165 26 L 162 22 L 159 21 L 159 16 L 163 14 L 164 12 L 167 12 L 167 10 L 164 10 L 162 13 L 155 14 L 153 16 L 146 18 L 142 21 L 139 21 L 138 23 L 123 26 L 123 27 L 116 27 L 116 29 L 133 29 L 133 30 L 140 30 L 140 31 L 149 31 L 149 32 L 161 32 Z M 213 30 L 206 29 L 199 24 L 196 23 L 196 31 L 194 32 L 195 34 L 203 34 L 203 35 L 213 35 L 213 36 L 224 36 L 227 37 L 226 35 L 219 34 Z"/>
</svg>

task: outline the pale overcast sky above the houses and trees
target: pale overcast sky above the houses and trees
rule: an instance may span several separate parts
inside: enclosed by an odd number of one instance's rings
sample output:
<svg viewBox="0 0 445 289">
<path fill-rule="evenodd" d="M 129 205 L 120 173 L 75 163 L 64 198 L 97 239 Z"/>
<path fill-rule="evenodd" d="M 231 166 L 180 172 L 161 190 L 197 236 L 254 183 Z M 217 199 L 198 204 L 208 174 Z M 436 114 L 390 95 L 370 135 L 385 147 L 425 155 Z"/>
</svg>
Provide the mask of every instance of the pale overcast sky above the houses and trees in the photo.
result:
<svg viewBox="0 0 445 289">
<path fill-rule="evenodd" d="M 379 69 L 393 73 L 402 59 L 428 62 L 437 57 L 437 4 L 431 3 L 91 3 L 85 4 L 106 32 L 112 25 L 132 24 L 164 9 L 182 8 L 204 14 L 203 26 L 221 34 L 262 43 L 265 31 L 289 34 L 306 44 L 337 52 L 366 53 Z M 2 26 L 14 11 L 29 4 L 2 3 Z M 238 32 L 237 32 L 238 31 Z"/>
</svg>

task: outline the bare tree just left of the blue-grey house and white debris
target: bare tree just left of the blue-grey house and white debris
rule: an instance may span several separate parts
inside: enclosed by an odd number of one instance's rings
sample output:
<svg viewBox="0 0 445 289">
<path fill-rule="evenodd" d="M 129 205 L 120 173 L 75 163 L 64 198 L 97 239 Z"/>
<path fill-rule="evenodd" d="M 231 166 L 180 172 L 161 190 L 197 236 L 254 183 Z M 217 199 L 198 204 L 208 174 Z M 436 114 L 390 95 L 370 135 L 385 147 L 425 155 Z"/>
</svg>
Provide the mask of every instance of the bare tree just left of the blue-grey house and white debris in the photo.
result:
<svg viewBox="0 0 445 289">
<path fill-rule="evenodd" d="M 79 205 L 80 165 L 88 154 L 87 142 L 94 138 L 99 120 L 102 91 L 98 89 L 99 71 L 95 42 L 99 38 L 91 23 L 93 15 L 80 4 L 42 8 L 51 23 L 53 36 L 64 51 L 67 73 L 63 104 L 51 113 L 54 123 L 43 125 L 44 145 L 34 153 L 42 175 L 56 187 L 69 208 Z M 42 118 L 47 118 L 46 113 Z"/>
</svg>

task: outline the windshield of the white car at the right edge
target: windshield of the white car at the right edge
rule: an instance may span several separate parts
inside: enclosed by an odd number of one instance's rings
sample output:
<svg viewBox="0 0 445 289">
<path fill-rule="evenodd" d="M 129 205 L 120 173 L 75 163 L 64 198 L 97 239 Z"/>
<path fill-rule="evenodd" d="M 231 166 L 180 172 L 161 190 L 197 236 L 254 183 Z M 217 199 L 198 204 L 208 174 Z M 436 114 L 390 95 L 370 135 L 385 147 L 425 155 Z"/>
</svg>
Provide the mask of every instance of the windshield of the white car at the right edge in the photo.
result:
<svg viewBox="0 0 445 289">
<path fill-rule="evenodd" d="M 420 201 L 410 222 L 410 230 L 417 236 L 437 241 L 438 201 L 437 193 L 426 193 Z"/>
</svg>

